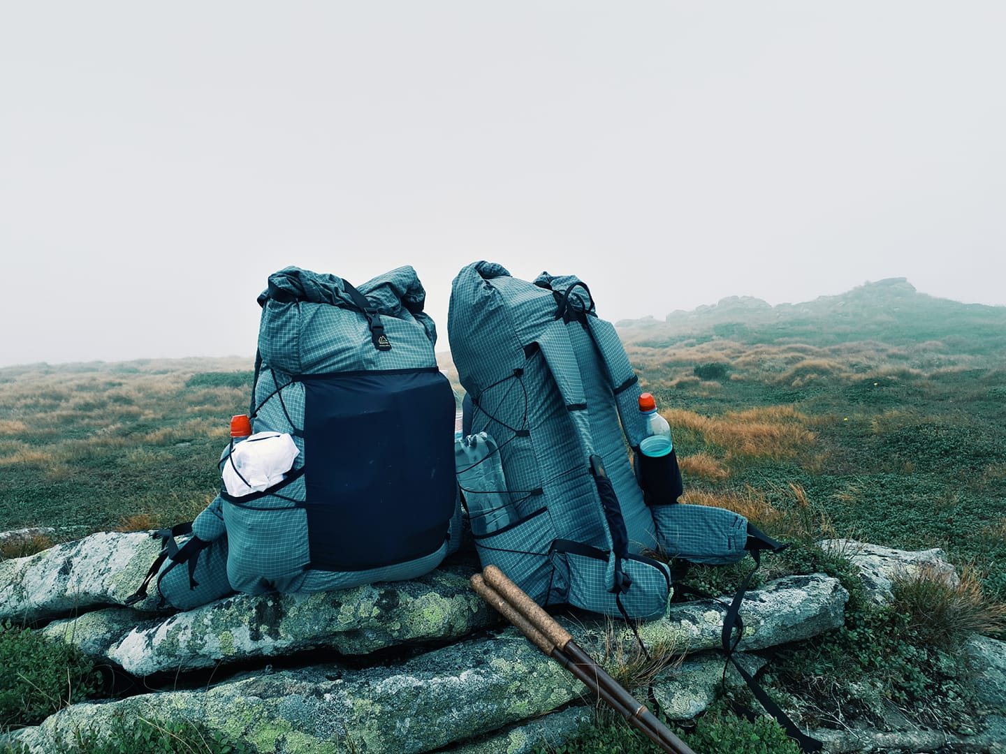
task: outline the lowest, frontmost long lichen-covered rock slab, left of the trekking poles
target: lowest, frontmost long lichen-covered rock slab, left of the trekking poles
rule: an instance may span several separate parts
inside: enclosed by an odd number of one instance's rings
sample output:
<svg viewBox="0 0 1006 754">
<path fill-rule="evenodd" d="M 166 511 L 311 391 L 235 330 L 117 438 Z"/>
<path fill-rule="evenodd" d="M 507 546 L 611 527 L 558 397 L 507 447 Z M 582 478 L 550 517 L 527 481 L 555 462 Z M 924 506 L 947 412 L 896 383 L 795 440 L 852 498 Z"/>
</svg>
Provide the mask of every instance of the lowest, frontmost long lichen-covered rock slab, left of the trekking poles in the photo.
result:
<svg viewBox="0 0 1006 754">
<path fill-rule="evenodd" d="M 558 709 L 582 689 L 508 628 L 393 667 L 260 672 L 207 690 L 74 705 L 15 736 L 42 754 L 76 727 L 101 730 L 127 715 L 200 723 L 276 754 L 417 754 Z"/>
</svg>

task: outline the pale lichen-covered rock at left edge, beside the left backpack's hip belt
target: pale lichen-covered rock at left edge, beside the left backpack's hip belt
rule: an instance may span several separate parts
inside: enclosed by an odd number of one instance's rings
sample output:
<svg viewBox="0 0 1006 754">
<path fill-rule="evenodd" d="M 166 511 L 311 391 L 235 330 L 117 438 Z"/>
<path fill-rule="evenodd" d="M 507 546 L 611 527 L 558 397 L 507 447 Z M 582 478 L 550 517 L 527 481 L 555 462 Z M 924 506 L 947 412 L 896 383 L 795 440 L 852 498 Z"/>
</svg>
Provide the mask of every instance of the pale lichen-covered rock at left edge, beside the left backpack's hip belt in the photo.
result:
<svg viewBox="0 0 1006 754">
<path fill-rule="evenodd" d="M 161 544 L 149 533 L 103 532 L 0 562 L 0 618 L 63 617 L 123 605 Z"/>
</svg>

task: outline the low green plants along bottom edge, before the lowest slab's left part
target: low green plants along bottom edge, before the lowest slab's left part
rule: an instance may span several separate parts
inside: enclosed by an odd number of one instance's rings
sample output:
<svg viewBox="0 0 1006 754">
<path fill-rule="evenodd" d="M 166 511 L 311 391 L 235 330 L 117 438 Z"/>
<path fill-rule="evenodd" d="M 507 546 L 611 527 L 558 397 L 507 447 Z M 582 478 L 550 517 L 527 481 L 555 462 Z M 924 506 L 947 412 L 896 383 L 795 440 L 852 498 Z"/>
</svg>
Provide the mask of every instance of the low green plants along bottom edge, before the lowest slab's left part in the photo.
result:
<svg viewBox="0 0 1006 754">
<path fill-rule="evenodd" d="M 57 754 L 253 754 L 250 744 L 184 721 L 116 717 L 109 730 L 78 728 Z"/>
</svg>

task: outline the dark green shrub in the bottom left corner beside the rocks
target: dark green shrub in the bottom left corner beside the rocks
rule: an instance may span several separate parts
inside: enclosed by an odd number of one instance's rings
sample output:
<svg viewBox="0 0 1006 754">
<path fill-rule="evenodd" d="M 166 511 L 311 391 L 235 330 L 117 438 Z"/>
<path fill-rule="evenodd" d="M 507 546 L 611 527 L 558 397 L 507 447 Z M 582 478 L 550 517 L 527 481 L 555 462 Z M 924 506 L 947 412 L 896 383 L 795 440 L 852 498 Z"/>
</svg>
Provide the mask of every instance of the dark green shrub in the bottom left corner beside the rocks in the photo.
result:
<svg viewBox="0 0 1006 754">
<path fill-rule="evenodd" d="M 75 646 L 0 623 L 0 727 L 40 723 L 103 688 L 101 674 Z"/>
</svg>

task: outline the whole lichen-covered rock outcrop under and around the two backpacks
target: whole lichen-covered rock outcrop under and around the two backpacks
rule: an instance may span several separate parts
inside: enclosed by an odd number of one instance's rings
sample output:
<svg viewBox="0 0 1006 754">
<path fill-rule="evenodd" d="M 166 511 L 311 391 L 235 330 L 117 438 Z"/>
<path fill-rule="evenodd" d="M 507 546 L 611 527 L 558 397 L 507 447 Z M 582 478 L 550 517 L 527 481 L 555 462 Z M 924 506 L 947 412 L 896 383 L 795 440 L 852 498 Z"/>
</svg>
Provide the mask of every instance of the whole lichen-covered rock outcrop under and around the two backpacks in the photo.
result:
<svg viewBox="0 0 1006 754">
<path fill-rule="evenodd" d="M 40 621 L 50 637 L 142 677 L 147 689 L 164 687 L 73 705 L 15 731 L 34 754 L 50 751 L 81 725 L 102 730 L 123 715 L 200 723 L 260 751 L 370 754 L 528 752 L 542 740 L 560 743 L 590 717 L 595 700 L 585 687 L 470 588 L 479 567 L 471 554 L 453 556 L 412 581 L 233 595 L 170 614 L 150 601 L 124 606 L 156 554 L 157 543 L 151 548 L 150 542 L 143 534 L 99 534 L 0 563 L 0 617 Z M 846 541 L 824 546 L 859 565 L 878 599 L 895 571 L 946 565 L 939 551 Z M 765 662 L 759 650 L 842 625 L 847 598 L 838 581 L 823 574 L 790 576 L 748 592 L 739 662 L 754 673 Z M 631 653 L 639 639 L 682 656 L 652 686 L 661 710 L 685 720 L 721 691 L 727 601 L 673 603 L 665 617 L 640 624 L 638 637 L 621 621 L 583 613 L 559 619 L 598 658 Z M 981 639 L 971 650 L 981 652 L 988 669 L 988 699 L 1001 704 L 1002 642 Z M 739 683 L 732 668 L 726 679 Z"/>
</svg>

